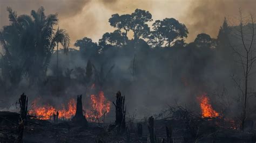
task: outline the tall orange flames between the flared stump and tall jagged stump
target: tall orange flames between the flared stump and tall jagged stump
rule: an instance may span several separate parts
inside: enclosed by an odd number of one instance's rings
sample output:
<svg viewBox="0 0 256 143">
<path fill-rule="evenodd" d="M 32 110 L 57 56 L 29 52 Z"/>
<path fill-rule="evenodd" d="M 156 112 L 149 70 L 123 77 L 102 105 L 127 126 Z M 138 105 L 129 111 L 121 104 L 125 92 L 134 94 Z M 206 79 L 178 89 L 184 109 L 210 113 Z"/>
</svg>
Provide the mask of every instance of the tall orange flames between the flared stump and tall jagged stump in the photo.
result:
<svg viewBox="0 0 256 143">
<path fill-rule="evenodd" d="M 89 121 L 100 121 L 110 111 L 110 102 L 106 100 L 103 91 L 98 95 L 91 95 L 91 110 L 86 110 L 85 117 Z"/>
</svg>

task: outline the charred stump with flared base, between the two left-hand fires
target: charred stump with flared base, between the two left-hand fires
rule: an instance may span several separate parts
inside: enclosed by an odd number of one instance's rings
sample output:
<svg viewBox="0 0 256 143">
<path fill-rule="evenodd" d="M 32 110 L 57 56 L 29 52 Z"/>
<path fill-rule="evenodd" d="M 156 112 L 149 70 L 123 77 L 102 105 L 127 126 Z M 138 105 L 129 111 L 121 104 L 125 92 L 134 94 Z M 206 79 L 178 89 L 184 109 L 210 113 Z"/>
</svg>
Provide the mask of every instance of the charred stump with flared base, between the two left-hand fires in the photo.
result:
<svg viewBox="0 0 256 143">
<path fill-rule="evenodd" d="M 76 114 L 72 118 L 73 123 L 87 126 L 87 120 L 83 115 L 83 104 L 82 104 L 82 95 L 77 96 L 77 107 L 76 107 Z"/>
</svg>

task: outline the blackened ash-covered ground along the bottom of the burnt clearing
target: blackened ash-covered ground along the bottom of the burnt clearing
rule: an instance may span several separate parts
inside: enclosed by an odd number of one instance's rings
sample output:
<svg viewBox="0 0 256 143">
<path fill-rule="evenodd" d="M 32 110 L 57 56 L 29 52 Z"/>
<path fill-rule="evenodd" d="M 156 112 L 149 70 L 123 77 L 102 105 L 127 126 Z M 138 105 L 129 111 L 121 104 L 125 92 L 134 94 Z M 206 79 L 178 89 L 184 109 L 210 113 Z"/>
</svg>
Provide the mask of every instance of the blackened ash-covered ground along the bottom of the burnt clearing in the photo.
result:
<svg viewBox="0 0 256 143">
<path fill-rule="evenodd" d="M 15 142 L 18 137 L 18 113 L 0 112 L 0 142 Z M 225 129 L 216 121 L 203 120 L 193 125 L 184 120 L 162 119 L 154 121 L 156 143 L 166 142 L 167 125 L 172 126 L 173 142 L 255 142 L 255 130 L 246 132 Z M 52 121 L 28 119 L 24 127 L 23 142 L 148 142 L 147 122 L 143 125 L 143 135 L 137 134 L 136 123 L 127 123 L 127 131 L 122 135 L 110 130 L 110 124 L 89 123 L 88 126 L 73 124 L 72 121 Z M 190 127 L 188 127 L 190 125 Z M 194 130 L 196 129 L 196 130 Z"/>
</svg>

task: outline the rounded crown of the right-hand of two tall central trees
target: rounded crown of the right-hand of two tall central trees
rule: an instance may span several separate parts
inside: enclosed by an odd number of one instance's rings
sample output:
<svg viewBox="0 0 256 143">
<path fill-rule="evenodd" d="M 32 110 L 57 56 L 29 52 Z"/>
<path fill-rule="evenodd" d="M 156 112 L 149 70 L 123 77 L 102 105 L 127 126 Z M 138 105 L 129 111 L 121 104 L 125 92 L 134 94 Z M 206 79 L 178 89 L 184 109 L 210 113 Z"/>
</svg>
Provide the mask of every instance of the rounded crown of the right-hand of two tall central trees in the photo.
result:
<svg viewBox="0 0 256 143">
<path fill-rule="evenodd" d="M 164 20 L 156 20 L 153 23 L 153 36 L 149 37 L 152 44 L 171 46 L 171 42 L 178 38 L 186 38 L 188 31 L 184 24 L 179 23 L 178 20 L 174 18 L 165 18 Z"/>
</svg>

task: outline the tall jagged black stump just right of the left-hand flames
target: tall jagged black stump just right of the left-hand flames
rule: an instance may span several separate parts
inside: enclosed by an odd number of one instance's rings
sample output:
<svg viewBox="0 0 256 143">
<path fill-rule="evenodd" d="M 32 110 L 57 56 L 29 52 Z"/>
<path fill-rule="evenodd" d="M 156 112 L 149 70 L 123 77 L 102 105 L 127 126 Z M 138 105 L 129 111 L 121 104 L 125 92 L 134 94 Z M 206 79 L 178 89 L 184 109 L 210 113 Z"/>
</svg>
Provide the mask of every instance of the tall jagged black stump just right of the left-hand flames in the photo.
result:
<svg viewBox="0 0 256 143">
<path fill-rule="evenodd" d="M 125 106 L 125 96 L 121 95 L 121 92 L 118 91 L 116 94 L 116 103 L 113 102 L 116 108 L 116 121 L 114 122 L 117 126 L 117 132 L 123 133 L 126 131 L 125 115 L 126 115 L 126 106 Z"/>
</svg>

